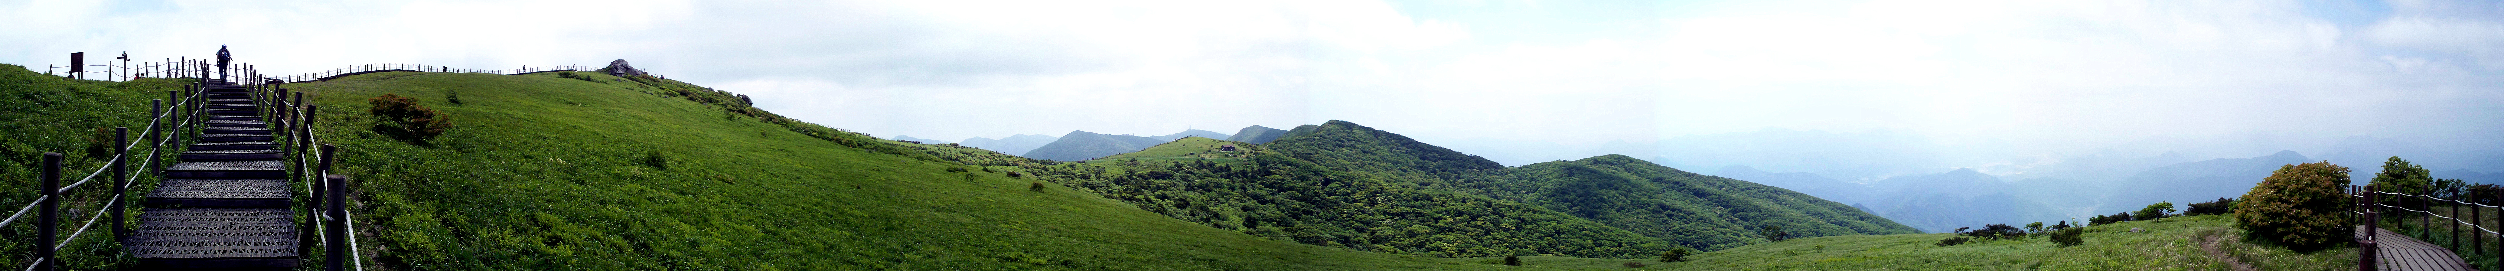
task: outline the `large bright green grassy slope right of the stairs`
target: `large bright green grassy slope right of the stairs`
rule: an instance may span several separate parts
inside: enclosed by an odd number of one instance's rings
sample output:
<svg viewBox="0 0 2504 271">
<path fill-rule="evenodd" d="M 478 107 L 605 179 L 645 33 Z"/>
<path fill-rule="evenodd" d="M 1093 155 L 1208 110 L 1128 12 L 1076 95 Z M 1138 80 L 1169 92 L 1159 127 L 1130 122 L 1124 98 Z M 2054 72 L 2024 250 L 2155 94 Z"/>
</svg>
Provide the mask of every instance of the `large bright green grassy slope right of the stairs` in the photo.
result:
<svg viewBox="0 0 2504 271">
<path fill-rule="evenodd" d="M 811 133 L 674 80 L 576 78 L 371 73 L 288 88 L 323 105 L 318 133 L 346 153 L 366 251 L 403 271 L 1500 268 L 1257 238 L 992 171 L 1049 161 Z M 383 93 L 451 113 L 453 128 L 426 143 L 378 136 L 361 108 Z"/>
</svg>

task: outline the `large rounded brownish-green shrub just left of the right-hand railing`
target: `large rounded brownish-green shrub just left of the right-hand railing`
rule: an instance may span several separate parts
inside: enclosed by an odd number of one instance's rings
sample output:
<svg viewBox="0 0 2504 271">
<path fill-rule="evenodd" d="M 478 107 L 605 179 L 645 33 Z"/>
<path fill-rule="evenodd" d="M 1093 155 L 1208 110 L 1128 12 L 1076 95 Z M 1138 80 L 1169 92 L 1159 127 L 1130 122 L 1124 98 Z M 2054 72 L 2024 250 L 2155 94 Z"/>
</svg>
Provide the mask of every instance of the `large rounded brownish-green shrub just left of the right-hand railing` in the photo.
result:
<svg viewBox="0 0 2504 271">
<path fill-rule="evenodd" d="M 2394 158 L 2396 161 L 2396 158 Z M 2279 166 L 2244 193 L 2234 208 L 2239 228 L 2256 241 L 2294 251 L 2321 251 L 2351 238 L 2346 196 L 2349 168 L 2321 163 Z"/>
</svg>

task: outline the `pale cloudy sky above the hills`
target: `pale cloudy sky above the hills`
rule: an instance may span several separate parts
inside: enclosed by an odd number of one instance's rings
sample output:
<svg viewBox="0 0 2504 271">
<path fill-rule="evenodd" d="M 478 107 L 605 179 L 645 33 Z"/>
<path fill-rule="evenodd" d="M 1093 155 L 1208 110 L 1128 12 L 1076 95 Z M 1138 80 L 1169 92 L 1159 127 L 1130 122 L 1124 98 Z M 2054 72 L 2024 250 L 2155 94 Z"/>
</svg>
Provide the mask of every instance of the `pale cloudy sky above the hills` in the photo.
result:
<svg viewBox="0 0 2504 271">
<path fill-rule="evenodd" d="M 30 68 L 215 45 L 278 75 L 631 60 L 881 138 L 1352 120 L 1512 166 L 1760 130 L 1976 166 L 2151 138 L 2504 148 L 2504 3 L 2471 0 L 0 0 L 0 63 Z"/>
</svg>

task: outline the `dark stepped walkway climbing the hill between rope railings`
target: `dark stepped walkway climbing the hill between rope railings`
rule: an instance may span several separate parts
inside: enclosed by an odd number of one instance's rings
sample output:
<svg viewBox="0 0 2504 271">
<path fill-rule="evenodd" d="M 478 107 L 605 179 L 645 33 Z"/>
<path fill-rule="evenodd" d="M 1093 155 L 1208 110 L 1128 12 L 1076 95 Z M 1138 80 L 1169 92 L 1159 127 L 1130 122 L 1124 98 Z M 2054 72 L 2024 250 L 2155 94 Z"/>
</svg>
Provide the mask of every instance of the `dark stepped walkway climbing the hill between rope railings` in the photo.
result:
<svg viewBox="0 0 2504 271">
<path fill-rule="evenodd" d="M 288 188 L 288 151 L 273 141 L 260 103 L 235 83 L 208 80 L 208 128 L 200 143 L 165 166 L 148 191 L 140 226 L 123 238 L 140 268 L 263 268 L 300 266 L 303 238 Z"/>
</svg>

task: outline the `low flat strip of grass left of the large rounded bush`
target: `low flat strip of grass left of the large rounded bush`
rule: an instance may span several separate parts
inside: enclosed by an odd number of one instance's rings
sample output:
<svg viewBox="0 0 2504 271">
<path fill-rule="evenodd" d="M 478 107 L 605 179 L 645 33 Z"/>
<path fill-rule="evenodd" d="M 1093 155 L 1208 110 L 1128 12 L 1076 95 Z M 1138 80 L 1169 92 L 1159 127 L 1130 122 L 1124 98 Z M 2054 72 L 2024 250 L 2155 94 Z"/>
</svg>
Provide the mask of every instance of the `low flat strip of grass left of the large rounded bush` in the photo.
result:
<svg viewBox="0 0 2504 271">
<path fill-rule="evenodd" d="M 2131 228 L 2138 228 L 2136 233 Z M 1663 263 L 1670 271 L 2229 271 L 2234 258 L 2261 271 L 2339 271 L 2356 266 L 2356 248 L 2294 253 L 2246 243 L 2226 216 L 2183 216 L 2088 226 L 2083 246 L 2058 248 L 2043 236 L 1936 246 L 1953 233 L 1820 236 L 1758 243 Z M 2216 238 L 2211 243 L 2211 238 Z M 2204 248 L 2216 248 L 2209 253 Z"/>
</svg>

